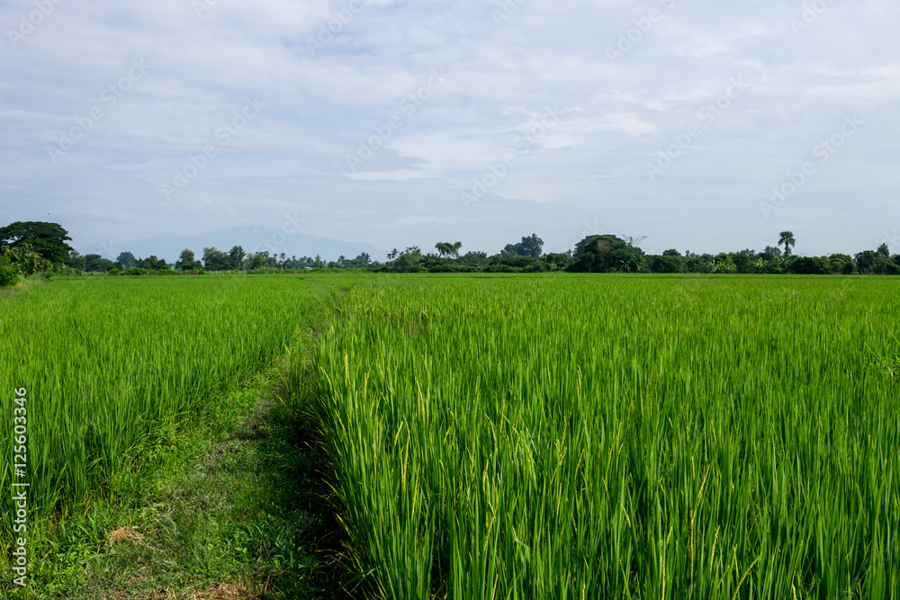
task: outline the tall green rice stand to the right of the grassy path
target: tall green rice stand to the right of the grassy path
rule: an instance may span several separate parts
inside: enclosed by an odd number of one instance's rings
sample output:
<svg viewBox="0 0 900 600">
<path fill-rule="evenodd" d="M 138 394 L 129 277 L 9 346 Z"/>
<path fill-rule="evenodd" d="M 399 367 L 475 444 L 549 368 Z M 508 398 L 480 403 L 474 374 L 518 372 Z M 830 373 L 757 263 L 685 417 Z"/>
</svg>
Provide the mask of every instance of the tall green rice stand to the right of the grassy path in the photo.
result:
<svg viewBox="0 0 900 600">
<path fill-rule="evenodd" d="M 385 278 L 320 340 L 385 598 L 889 598 L 896 282 Z"/>
</svg>

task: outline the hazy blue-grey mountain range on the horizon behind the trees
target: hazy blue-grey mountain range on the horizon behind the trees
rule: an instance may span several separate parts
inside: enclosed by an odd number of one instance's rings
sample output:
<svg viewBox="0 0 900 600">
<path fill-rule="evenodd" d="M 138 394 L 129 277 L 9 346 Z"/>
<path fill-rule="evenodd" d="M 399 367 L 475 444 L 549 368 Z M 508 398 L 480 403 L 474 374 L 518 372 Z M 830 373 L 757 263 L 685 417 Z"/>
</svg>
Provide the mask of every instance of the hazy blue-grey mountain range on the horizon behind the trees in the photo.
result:
<svg viewBox="0 0 900 600">
<path fill-rule="evenodd" d="M 157 255 L 168 263 L 174 263 L 185 248 L 193 250 L 197 260 L 203 255 L 203 248 L 216 247 L 228 252 L 232 246 L 241 246 L 247 254 L 264 252 L 287 256 L 319 255 L 323 260 L 337 260 L 338 256 L 347 258 L 366 253 L 374 261 L 384 261 L 387 252 L 368 244 L 342 242 L 328 237 L 308 236 L 304 234 L 287 235 L 282 231 L 267 227 L 233 227 L 211 231 L 200 236 L 184 237 L 166 234 L 148 237 L 134 242 L 96 242 L 76 249 L 83 255 L 102 255 L 103 258 L 115 260 L 121 252 L 130 252 L 137 258 Z"/>
</svg>

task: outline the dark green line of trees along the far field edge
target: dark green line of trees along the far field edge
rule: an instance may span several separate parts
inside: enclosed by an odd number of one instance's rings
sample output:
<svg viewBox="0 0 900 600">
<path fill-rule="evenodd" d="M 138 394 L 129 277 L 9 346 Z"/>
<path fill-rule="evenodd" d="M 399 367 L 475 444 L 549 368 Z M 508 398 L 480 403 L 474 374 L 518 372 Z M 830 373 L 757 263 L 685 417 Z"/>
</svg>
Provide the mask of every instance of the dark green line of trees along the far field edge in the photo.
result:
<svg viewBox="0 0 900 600">
<path fill-rule="evenodd" d="M 96 254 L 80 255 L 67 245 L 68 240 L 71 237 L 58 223 L 16 222 L 0 228 L 0 286 L 15 282 L 20 275 L 49 272 L 138 275 L 367 269 L 380 273 L 900 274 L 900 255 L 891 255 L 887 244 L 853 256 L 800 256 L 793 253 L 797 242 L 791 231 L 782 231 L 774 246 L 759 253 L 745 249 L 698 255 L 670 249 L 662 255 L 648 255 L 639 246 L 640 239 L 604 234 L 584 237 L 567 252 L 545 254 L 544 240 L 532 234 L 495 255 L 480 251 L 461 254 L 461 242 L 438 242 L 436 252 L 423 252 L 419 246 L 402 251 L 394 248 L 384 263 L 373 261 L 366 253 L 326 261 L 320 256 L 247 253 L 241 246 L 232 246 L 227 252 L 205 247 L 199 258 L 185 248 L 173 264 L 156 255 L 139 258 L 130 252 L 122 252 L 113 261 Z"/>
</svg>

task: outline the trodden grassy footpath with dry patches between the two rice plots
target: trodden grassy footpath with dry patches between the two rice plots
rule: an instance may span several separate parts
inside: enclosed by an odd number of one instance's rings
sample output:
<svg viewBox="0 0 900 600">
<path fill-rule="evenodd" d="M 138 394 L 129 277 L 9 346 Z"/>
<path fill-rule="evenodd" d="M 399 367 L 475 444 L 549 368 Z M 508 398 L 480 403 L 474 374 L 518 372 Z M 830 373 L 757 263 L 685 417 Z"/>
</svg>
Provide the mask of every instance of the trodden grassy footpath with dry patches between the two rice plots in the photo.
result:
<svg viewBox="0 0 900 600">
<path fill-rule="evenodd" d="M 304 411 L 308 341 L 169 432 L 121 504 L 58 523 L 22 597 L 334 598 L 327 461 Z M 204 596 L 207 595 L 207 596 Z M 16 597 L 16 596 L 13 596 Z"/>
</svg>

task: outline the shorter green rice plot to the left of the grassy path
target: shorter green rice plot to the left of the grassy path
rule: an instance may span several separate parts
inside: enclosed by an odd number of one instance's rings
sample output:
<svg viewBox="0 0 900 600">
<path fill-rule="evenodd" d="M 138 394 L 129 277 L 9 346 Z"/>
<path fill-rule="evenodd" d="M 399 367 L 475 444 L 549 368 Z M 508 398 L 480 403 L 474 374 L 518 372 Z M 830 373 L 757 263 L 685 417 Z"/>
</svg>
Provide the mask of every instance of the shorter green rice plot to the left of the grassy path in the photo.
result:
<svg viewBox="0 0 900 600">
<path fill-rule="evenodd" d="M 0 301 L 0 438 L 28 390 L 29 526 L 114 497 L 140 449 L 257 372 L 337 286 L 310 278 L 60 281 Z M 0 488 L 14 480 L 0 446 Z M 13 515 L 9 494 L 3 515 Z M 0 548 L 11 540 L 0 522 Z M 33 527 L 32 527 L 33 531 Z"/>
</svg>

